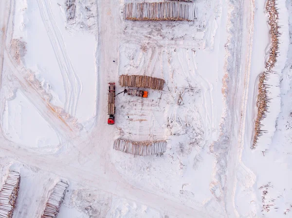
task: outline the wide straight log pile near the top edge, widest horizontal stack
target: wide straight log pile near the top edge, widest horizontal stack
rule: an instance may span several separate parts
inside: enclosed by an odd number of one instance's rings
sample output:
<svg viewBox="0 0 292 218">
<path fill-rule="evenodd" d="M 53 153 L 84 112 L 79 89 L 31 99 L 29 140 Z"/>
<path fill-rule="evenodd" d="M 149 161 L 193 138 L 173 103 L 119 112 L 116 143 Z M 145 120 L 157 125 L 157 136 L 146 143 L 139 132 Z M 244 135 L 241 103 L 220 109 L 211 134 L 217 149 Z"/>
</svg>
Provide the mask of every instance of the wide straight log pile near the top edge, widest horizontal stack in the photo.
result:
<svg viewBox="0 0 292 218">
<path fill-rule="evenodd" d="M 180 2 L 143 2 L 124 5 L 124 18 L 129 20 L 187 20 L 197 18 L 194 4 Z"/>
</svg>

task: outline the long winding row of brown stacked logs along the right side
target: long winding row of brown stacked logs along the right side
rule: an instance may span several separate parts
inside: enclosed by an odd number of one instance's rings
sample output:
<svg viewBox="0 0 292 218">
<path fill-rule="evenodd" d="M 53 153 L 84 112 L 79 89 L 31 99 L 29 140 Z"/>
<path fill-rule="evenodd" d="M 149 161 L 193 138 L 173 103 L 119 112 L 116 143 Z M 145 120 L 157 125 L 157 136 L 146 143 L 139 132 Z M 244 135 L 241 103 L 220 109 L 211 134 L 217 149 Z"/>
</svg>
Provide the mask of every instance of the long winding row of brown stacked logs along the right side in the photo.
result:
<svg viewBox="0 0 292 218">
<path fill-rule="evenodd" d="M 252 145 L 252 149 L 256 148 L 256 144 L 258 141 L 258 137 L 261 136 L 265 131 L 261 128 L 262 120 L 266 117 L 268 112 L 268 102 L 270 99 L 267 95 L 267 89 L 269 85 L 266 83 L 267 76 L 272 72 L 272 68 L 275 66 L 278 57 L 278 49 L 279 49 L 279 25 L 278 25 L 278 11 L 276 7 L 276 0 L 268 0 L 266 4 L 266 11 L 269 13 L 268 24 L 271 27 L 270 34 L 272 37 L 271 48 L 269 51 L 269 60 L 266 63 L 266 72 L 262 73 L 259 77 L 259 85 L 258 85 L 258 95 L 257 95 L 257 117 L 256 117 L 256 125 L 255 125 L 255 136 Z"/>
</svg>

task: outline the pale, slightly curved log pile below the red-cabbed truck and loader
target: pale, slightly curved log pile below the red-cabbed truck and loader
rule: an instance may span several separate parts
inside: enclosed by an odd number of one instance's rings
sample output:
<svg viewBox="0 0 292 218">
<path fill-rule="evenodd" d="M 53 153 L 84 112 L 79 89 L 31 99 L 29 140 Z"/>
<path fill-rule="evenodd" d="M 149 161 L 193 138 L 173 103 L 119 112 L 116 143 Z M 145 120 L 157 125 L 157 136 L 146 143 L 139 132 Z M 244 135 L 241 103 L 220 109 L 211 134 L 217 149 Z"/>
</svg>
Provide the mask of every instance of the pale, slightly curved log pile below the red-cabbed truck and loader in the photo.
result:
<svg viewBox="0 0 292 218">
<path fill-rule="evenodd" d="M 166 151 L 166 141 L 132 141 L 118 138 L 114 141 L 113 149 L 140 156 L 160 154 Z"/>
</svg>

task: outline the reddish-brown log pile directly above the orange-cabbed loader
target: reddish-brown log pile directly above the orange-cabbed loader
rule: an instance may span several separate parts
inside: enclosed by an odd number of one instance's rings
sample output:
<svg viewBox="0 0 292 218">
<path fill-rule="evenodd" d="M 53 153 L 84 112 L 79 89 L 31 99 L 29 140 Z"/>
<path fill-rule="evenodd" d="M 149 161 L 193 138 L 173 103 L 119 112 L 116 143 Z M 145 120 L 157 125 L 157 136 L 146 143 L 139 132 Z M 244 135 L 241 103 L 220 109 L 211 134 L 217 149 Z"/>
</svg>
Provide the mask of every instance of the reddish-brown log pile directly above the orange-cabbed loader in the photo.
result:
<svg viewBox="0 0 292 218">
<path fill-rule="evenodd" d="M 152 88 L 158 90 L 162 90 L 164 86 L 163 79 L 140 75 L 121 75 L 119 82 L 121 86 Z"/>
</svg>

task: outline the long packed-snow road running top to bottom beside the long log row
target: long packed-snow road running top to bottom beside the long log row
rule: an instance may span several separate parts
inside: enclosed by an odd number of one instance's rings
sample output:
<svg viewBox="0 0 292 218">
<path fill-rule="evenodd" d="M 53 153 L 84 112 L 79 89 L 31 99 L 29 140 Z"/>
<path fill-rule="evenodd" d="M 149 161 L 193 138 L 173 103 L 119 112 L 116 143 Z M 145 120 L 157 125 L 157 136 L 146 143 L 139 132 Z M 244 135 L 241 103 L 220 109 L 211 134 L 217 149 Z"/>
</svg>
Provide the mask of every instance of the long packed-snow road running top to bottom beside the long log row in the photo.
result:
<svg viewBox="0 0 292 218">
<path fill-rule="evenodd" d="M 229 2 L 231 3 L 231 2 Z M 219 138 L 220 158 L 226 155 L 226 165 L 220 166 L 226 171 L 225 184 L 222 185 L 225 209 L 228 218 L 239 218 L 235 206 L 237 187 L 237 168 L 241 162 L 244 144 L 245 116 L 248 102 L 251 55 L 254 35 L 254 2 L 240 0 L 233 6 L 229 19 L 233 27 L 229 32 L 227 44 L 226 72 L 228 74 L 227 116 L 225 117 L 223 134 Z M 236 13 L 237 17 L 233 14 Z M 245 28 L 244 28 L 245 27 Z M 237 30 L 234 32 L 234 30 Z M 232 63 L 230 60 L 234 60 Z M 222 144 L 220 144 L 222 143 Z M 227 150 L 228 153 L 226 153 Z M 224 175 L 222 175 L 224 177 Z"/>
</svg>

